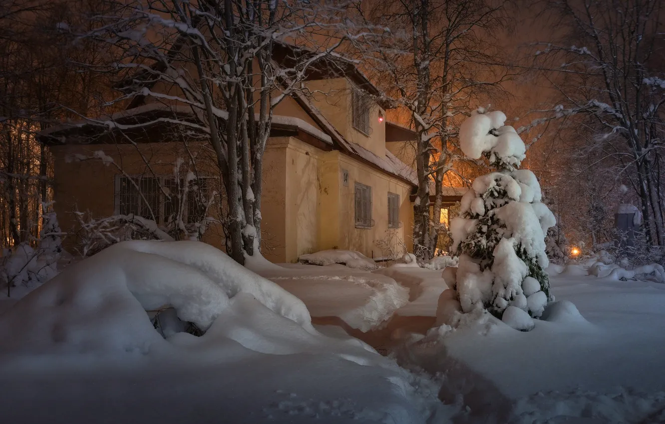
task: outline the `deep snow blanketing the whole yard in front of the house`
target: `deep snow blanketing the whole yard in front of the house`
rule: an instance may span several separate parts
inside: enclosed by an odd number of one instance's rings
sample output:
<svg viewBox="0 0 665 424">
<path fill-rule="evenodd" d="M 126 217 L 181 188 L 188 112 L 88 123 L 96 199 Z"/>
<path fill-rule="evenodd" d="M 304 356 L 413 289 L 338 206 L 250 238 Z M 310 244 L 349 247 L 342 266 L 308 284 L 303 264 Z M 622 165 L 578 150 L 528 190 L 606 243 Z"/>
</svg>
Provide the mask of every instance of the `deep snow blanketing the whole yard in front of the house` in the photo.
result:
<svg viewBox="0 0 665 424">
<path fill-rule="evenodd" d="M 665 284 L 551 266 L 531 332 L 485 314 L 409 336 L 451 268 L 248 266 L 266 278 L 203 243 L 135 241 L 0 302 L 3 422 L 665 422 Z M 168 305 L 207 332 L 162 338 L 145 310 Z"/>
</svg>

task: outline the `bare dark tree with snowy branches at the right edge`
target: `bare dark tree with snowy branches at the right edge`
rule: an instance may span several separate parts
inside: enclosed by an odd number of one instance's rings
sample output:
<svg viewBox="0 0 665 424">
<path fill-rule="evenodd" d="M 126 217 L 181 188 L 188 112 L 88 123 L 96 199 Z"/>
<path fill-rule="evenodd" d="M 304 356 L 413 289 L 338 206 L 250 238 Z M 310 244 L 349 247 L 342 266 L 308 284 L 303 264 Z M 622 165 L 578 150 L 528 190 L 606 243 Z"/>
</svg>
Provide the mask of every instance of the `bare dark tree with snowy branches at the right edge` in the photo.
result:
<svg viewBox="0 0 665 424">
<path fill-rule="evenodd" d="M 641 203 L 648 239 L 665 245 L 663 182 L 662 0 L 559 0 L 563 35 L 541 43 L 538 66 L 559 92 L 553 116 L 595 134 L 602 151 L 597 166 L 611 163 L 616 179 L 624 178 Z M 552 9 L 549 9 L 552 10 Z M 551 72 L 556 71 L 556 72 Z"/>
</svg>

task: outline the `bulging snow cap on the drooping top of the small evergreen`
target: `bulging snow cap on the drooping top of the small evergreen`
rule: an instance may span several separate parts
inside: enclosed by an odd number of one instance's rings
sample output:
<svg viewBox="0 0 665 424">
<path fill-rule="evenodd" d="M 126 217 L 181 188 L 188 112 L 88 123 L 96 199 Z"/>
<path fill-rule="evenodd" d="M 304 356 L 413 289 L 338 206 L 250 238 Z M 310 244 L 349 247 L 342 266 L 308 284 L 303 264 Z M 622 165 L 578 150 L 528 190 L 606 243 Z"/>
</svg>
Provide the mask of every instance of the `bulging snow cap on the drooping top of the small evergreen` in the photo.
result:
<svg viewBox="0 0 665 424">
<path fill-rule="evenodd" d="M 526 157 L 524 142 L 511 126 L 504 126 L 505 114 L 474 112 L 460 126 L 460 147 L 471 159 L 483 154 L 501 167 L 519 167 Z"/>
</svg>

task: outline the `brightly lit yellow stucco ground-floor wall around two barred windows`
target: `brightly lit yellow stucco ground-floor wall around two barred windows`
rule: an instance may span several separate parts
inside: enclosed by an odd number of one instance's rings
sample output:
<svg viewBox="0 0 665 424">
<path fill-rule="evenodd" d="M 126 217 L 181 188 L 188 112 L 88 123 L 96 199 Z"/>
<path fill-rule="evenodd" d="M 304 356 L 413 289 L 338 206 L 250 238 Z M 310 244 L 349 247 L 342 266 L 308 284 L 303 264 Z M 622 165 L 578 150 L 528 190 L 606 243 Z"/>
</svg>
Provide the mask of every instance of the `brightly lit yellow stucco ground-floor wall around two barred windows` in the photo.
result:
<svg viewBox="0 0 665 424">
<path fill-rule="evenodd" d="M 408 184 L 338 151 L 322 152 L 297 138 L 271 139 L 264 158 L 263 231 L 276 247 L 264 255 L 273 262 L 294 262 L 324 249 L 350 249 L 368 257 L 386 253 L 376 241 L 390 231 L 394 247 L 412 249 L 412 205 Z M 282 171 L 283 169 L 283 171 Z M 342 183 L 348 170 L 348 185 Z M 288 171 L 287 171 L 288 170 Z M 372 187 L 374 227 L 355 226 L 354 185 Z M 402 227 L 388 229 L 388 191 L 400 195 Z M 399 248 L 398 248 L 399 249 Z"/>
</svg>

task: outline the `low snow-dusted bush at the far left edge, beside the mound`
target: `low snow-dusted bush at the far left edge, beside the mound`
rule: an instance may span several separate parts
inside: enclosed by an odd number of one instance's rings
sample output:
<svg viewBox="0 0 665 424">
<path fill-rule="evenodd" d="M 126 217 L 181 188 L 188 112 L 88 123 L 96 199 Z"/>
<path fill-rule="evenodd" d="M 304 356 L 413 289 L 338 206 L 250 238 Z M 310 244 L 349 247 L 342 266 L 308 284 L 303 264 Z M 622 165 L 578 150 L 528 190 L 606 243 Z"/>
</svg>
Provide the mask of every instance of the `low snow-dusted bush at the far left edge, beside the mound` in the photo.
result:
<svg viewBox="0 0 665 424">
<path fill-rule="evenodd" d="M 44 209 L 48 206 L 43 204 Z M 30 243 L 24 242 L 15 249 L 3 249 L 0 259 L 0 289 L 8 297 L 20 297 L 27 290 L 33 290 L 58 273 L 57 263 L 63 253 L 63 233 L 55 213 L 45 212 L 43 220 L 36 248 L 33 249 Z M 13 290 L 15 287 L 22 287 L 23 290 Z"/>
</svg>

